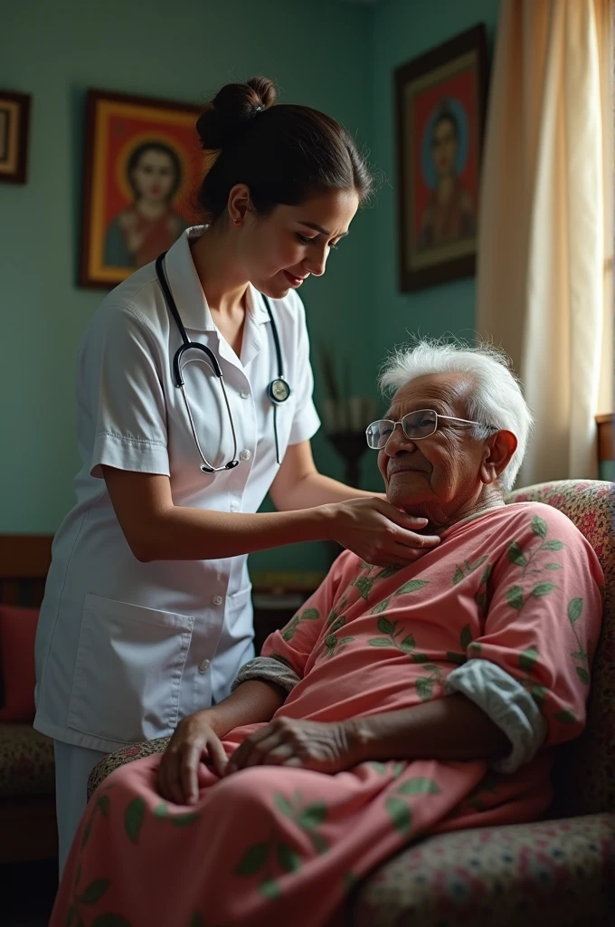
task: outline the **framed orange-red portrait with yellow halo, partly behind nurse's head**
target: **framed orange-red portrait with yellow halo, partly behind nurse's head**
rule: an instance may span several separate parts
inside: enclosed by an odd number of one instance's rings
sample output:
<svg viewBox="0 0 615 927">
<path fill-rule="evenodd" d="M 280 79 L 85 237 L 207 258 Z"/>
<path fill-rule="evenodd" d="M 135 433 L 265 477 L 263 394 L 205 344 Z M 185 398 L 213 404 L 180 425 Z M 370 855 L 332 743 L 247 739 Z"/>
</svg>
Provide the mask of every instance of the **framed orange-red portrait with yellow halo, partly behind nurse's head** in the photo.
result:
<svg viewBox="0 0 615 927">
<path fill-rule="evenodd" d="M 116 286 L 197 222 L 192 204 L 205 166 L 199 112 L 169 100 L 88 92 L 81 286 Z"/>
</svg>

